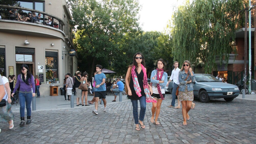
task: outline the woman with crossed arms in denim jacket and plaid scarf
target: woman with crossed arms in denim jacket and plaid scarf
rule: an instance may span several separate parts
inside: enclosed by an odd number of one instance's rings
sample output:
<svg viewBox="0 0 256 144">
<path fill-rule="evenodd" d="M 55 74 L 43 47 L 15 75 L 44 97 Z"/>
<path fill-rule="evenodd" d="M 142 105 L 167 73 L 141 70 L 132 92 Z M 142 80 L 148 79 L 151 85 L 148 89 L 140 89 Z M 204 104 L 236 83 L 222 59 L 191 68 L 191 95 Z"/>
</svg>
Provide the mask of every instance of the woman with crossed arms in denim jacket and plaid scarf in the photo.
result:
<svg viewBox="0 0 256 144">
<path fill-rule="evenodd" d="M 157 69 L 151 72 L 150 82 L 152 83 L 153 94 L 151 95 L 157 103 L 152 103 L 152 116 L 150 121 L 156 125 L 160 123 L 157 121 L 158 116 L 160 114 L 160 108 L 162 101 L 165 97 L 165 86 L 167 84 L 167 73 L 164 72 L 165 62 L 163 59 L 157 60 Z M 156 114 L 156 118 L 154 121 L 154 115 Z"/>
</svg>

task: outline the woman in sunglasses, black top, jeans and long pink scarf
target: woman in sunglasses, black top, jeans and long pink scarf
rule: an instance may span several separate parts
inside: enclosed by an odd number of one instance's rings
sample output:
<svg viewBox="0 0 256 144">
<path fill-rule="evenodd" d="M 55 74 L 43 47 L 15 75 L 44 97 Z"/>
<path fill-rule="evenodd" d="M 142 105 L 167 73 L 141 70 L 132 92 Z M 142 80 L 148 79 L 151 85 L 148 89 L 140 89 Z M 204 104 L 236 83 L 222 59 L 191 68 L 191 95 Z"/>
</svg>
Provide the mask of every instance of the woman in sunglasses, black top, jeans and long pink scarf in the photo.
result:
<svg viewBox="0 0 256 144">
<path fill-rule="evenodd" d="M 155 99 L 151 97 L 150 94 L 153 94 L 152 87 L 147 83 L 147 75 L 145 59 L 140 52 L 137 52 L 133 57 L 133 64 L 129 65 L 125 82 L 128 89 L 128 98 L 131 99 L 133 107 L 133 117 L 135 122 L 135 130 L 140 130 L 145 128 L 143 123 L 145 111 L 146 111 L 146 102 L 156 102 Z M 131 73 L 131 74 L 130 74 Z M 128 78 L 131 77 L 129 81 Z M 140 116 L 138 119 L 138 100 L 140 101 Z"/>
</svg>

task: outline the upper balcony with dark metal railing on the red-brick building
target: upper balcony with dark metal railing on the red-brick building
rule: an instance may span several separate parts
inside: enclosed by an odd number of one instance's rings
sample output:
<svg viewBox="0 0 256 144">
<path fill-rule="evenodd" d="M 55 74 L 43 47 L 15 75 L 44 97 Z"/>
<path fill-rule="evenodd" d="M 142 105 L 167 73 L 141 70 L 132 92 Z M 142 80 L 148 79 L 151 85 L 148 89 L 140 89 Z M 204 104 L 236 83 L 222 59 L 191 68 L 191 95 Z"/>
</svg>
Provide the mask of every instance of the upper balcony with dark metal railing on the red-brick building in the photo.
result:
<svg viewBox="0 0 256 144">
<path fill-rule="evenodd" d="M 254 37 L 254 24 L 253 24 L 253 18 L 251 18 L 251 37 Z M 237 24 L 236 24 L 236 38 L 244 38 L 244 32 L 245 32 L 245 18 L 242 17 L 238 19 Z M 249 18 L 247 22 L 247 37 L 249 37 Z"/>
</svg>

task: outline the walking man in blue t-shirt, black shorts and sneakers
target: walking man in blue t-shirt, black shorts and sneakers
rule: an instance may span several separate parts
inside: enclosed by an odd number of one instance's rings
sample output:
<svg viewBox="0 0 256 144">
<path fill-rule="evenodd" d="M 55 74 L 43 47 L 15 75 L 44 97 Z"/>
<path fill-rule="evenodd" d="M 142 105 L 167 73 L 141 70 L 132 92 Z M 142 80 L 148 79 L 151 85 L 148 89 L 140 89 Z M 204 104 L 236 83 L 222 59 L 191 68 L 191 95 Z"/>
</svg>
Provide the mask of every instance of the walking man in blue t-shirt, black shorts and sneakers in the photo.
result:
<svg viewBox="0 0 256 144">
<path fill-rule="evenodd" d="M 106 81 L 106 75 L 101 72 L 102 66 L 101 65 L 96 65 L 96 74 L 94 76 L 95 79 L 95 109 L 92 111 L 93 114 L 98 115 L 98 105 L 99 105 L 99 99 L 102 99 L 104 103 L 104 112 L 107 111 L 107 101 L 106 101 L 106 86 L 105 86 L 105 81 Z"/>
</svg>

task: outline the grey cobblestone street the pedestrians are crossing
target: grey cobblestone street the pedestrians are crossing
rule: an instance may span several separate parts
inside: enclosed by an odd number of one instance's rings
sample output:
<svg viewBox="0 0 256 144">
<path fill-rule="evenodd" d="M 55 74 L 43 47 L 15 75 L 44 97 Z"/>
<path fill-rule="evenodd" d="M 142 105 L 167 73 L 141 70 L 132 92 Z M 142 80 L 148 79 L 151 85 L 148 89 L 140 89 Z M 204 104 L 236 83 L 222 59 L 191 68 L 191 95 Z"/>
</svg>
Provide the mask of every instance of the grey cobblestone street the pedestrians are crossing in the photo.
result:
<svg viewBox="0 0 256 144">
<path fill-rule="evenodd" d="M 176 99 L 177 100 L 177 99 Z M 108 105 L 99 115 L 94 106 L 62 110 L 32 111 L 30 125 L 19 127 L 19 112 L 14 112 L 14 128 L 1 123 L 1 143 L 255 143 L 255 101 L 224 99 L 201 103 L 195 99 L 187 126 L 182 125 L 181 109 L 168 108 L 166 94 L 159 116 L 160 125 L 150 122 L 147 103 L 145 129 L 135 130 L 130 101 Z M 177 104 L 177 101 L 176 101 Z"/>
</svg>

